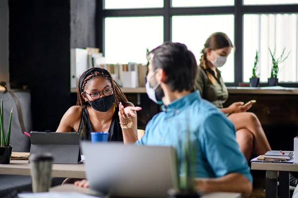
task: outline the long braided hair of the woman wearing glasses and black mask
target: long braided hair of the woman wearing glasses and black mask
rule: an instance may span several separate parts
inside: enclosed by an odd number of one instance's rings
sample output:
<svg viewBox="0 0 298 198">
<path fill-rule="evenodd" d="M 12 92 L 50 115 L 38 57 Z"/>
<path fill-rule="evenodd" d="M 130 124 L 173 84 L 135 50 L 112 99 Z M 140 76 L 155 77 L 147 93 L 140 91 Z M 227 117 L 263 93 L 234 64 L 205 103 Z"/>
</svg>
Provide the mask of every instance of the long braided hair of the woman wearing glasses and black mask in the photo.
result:
<svg viewBox="0 0 298 198">
<path fill-rule="evenodd" d="M 88 102 L 83 99 L 83 97 L 81 96 L 81 93 L 84 91 L 86 83 L 89 80 L 97 78 L 97 77 L 104 77 L 108 81 L 110 81 L 110 83 L 112 85 L 113 92 L 115 94 L 114 103 L 115 103 L 116 107 L 119 105 L 119 102 L 127 102 L 128 101 L 126 96 L 123 94 L 120 87 L 118 86 L 118 84 L 112 78 L 111 74 L 105 69 L 102 69 L 99 67 L 94 67 L 94 68 L 90 68 L 87 71 L 83 72 L 77 81 L 76 105 L 80 105 L 80 106 L 82 106 L 82 108 L 86 108 L 86 106 L 88 105 Z"/>
</svg>

